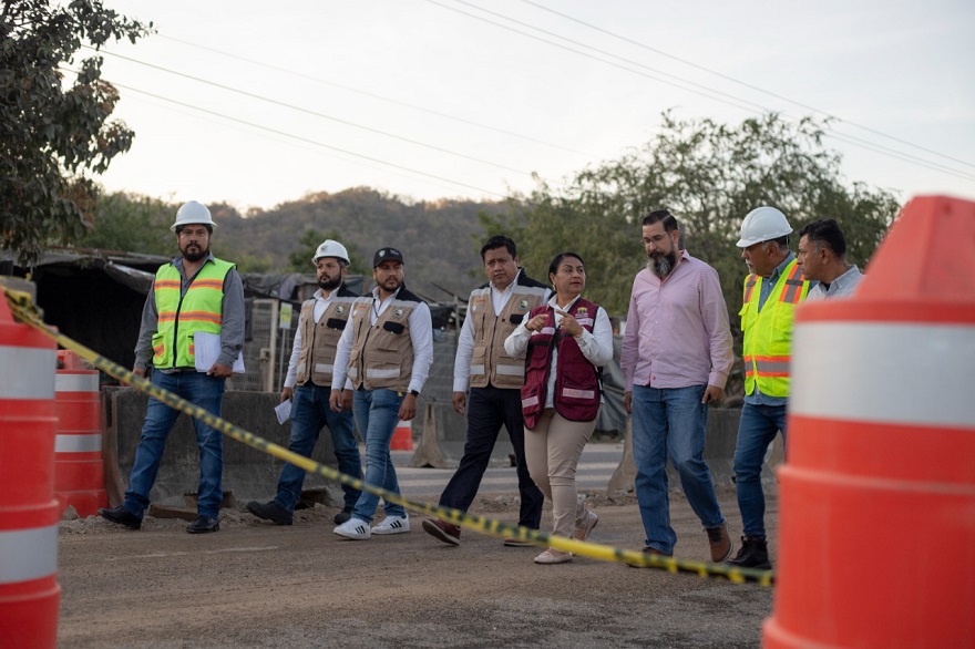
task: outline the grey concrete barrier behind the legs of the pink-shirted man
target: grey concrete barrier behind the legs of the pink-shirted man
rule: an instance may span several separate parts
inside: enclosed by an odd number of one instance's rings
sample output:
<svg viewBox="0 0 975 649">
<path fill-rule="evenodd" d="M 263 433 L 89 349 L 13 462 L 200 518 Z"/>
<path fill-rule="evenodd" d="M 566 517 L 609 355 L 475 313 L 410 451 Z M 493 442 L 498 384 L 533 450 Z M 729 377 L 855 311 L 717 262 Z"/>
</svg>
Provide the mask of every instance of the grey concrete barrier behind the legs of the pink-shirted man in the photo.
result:
<svg viewBox="0 0 975 649">
<path fill-rule="evenodd" d="M 711 477 L 715 488 L 735 487 L 735 445 L 738 442 L 738 420 L 741 418 L 740 408 L 712 408 L 708 411 L 708 432 L 705 441 L 705 461 L 711 468 Z M 777 437 L 766 455 L 762 468 L 762 488 L 767 495 L 776 493 L 774 468 L 784 462 L 784 449 L 782 439 Z M 670 491 L 679 492 L 680 478 L 677 471 L 667 461 L 667 478 Z M 635 488 L 636 465 L 633 461 L 633 418 L 626 421 L 626 440 L 623 446 L 623 460 L 616 472 L 609 478 L 606 491 L 632 492 Z"/>
</svg>

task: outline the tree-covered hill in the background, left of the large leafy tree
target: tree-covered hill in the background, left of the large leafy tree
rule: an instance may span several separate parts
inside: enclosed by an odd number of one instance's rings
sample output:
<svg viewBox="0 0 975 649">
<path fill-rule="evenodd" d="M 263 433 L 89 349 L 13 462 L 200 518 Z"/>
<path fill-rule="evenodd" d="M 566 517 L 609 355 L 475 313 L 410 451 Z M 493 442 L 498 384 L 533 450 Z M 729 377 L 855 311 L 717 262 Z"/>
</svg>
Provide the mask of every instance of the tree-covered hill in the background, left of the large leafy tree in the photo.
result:
<svg viewBox="0 0 975 649">
<path fill-rule="evenodd" d="M 94 227 L 76 245 L 171 256 L 170 225 L 178 205 L 124 193 L 102 198 Z M 408 202 L 357 187 L 309 194 L 274 209 L 246 216 L 226 204 L 209 205 L 217 229 L 214 254 L 252 272 L 312 272 L 311 257 L 327 238 L 341 241 L 350 271 L 371 277 L 372 254 L 386 246 L 406 258 L 407 286 L 435 300 L 466 298 L 483 282 L 478 251 L 483 238 L 479 215 L 500 207 L 470 200 Z M 444 292 L 445 289 L 449 292 Z"/>
</svg>

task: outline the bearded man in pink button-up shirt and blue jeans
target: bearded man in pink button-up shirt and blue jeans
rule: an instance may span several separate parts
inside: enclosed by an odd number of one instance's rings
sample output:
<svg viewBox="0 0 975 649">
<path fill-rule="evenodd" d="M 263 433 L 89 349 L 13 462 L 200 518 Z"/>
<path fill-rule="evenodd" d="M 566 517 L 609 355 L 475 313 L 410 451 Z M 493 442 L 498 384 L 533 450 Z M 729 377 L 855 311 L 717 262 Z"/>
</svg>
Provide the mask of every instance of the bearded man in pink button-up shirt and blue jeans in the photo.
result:
<svg viewBox="0 0 975 649">
<path fill-rule="evenodd" d="M 623 356 L 624 405 L 633 414 L 636 495 L 645 553 L 673 556 L 667 456 L 710 545 L 731 556 L 731 539 L 704 459 L 708 404 L 721 399 L 733 360 L 728 307 L 718 272 L 679 247 L 666 209 L 642 220 L 647 267 L 633 282 Z"/>
</svg>

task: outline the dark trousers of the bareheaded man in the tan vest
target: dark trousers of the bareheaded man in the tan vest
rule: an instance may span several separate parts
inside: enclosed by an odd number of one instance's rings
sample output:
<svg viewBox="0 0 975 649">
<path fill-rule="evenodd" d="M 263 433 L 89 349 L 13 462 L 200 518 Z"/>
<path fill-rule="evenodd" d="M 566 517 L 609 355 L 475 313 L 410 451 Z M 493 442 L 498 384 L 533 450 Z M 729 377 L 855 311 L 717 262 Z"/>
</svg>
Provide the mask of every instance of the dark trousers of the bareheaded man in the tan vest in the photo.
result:
<svg viewBox="0 0 975 649">
<path fill-rule="evenodd" d="M 507 429 L 514 450 L 521 512 L 519 525 L 538 529 L 545 496 L 528 475 L 525 463 L 525 420 L 522 396 L 517 389 L 471 388 L 468 400 L 468 441 L 456 472 L 440 496 L 440 505 L 466 512 L 478 495 L 481 480 L 491 463 L 491 452 L 501 426 Z"/>
</svg>

